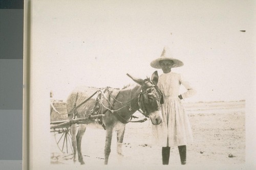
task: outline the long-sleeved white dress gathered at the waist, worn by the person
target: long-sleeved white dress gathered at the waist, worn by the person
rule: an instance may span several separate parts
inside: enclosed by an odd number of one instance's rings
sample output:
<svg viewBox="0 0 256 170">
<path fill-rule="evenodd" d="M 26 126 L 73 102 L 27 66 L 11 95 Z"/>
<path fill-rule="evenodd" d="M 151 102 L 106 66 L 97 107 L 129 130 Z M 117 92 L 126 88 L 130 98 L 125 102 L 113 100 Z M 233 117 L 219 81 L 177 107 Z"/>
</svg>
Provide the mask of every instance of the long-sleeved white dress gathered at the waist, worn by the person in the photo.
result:
<svg viewBox="0 0 256 170">
<path fill-rule="evenodd" d="M 181 84 L 187 89 L 181 94 L 183 99 L 196 93 L 189 83 L 175 72 L 162 74 L 158 80 L 157 85 L 164 97 L 164 104 L 161 105 L 163 122 L 160 125 L 152 125 L 152 130 L 155 142 L 161 147 L 186 145 L 193 141 L 188 116 L 178 98 Z"/>
</svg>

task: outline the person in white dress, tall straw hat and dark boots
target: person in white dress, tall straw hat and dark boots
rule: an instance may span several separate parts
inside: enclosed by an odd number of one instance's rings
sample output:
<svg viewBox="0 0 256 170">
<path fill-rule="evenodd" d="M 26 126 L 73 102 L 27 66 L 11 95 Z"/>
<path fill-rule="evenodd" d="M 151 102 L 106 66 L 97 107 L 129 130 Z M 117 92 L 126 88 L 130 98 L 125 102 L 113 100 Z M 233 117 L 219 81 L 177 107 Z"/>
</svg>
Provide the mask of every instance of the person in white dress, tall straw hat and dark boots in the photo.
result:
<svg viewBox="0 0 256 170">
<path fill-rule="evenodd" d="M 151 62 L 153 68 L 161 68 L 158 87 L 163 93 L 164 103 L 161 105 L 163 122 L 153 125 L 153 135 L 158 144 L 162 146 L 162 163 L 169 163 L 170 147 L 178 146 L 181 164 L 186 164 L 186 144 L 193 141 L 187 114 L 181 100 L 188 98 L 196 91 L 186 82 L 180 74 L 172 72 L 172 68 L 180 67 L 183 62 L 172 58 L 166 47 L 164 47 L 160 58 Z M 179 94 L 180 85 L 187 91 Z"/>
</svg>

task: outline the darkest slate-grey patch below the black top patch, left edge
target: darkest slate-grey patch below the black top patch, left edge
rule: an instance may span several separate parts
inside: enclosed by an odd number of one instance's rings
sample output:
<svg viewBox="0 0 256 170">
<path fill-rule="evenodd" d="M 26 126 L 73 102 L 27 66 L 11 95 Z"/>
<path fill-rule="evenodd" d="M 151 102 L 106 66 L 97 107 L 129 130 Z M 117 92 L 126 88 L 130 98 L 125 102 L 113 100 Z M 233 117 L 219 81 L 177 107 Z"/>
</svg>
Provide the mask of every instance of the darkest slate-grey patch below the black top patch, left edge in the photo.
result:
<svg viewBox="0 0 256 170">
<path fill-rule="evenodd" d="M 23 59 L 23 9 L 0 9 L 0 59 Z"/>
</svg>

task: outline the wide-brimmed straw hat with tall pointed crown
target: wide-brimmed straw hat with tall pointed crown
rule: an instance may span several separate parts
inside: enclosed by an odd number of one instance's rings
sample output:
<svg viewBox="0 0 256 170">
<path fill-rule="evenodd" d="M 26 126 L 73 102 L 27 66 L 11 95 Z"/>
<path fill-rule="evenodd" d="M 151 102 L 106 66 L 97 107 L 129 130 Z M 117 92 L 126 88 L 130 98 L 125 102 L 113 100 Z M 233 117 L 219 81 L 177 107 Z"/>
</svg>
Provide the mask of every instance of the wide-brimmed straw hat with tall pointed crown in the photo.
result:
<svg viewBox="0 0 256 170">
<path fill-rule="evenodd" d="M 180 67 L 180 66 L 184 65 L 182 61 L 172 57 L 172 55 L 169 52 L 168 47 L 166 47 L 166 46 L 163 48 L 163 52 L 162 52 L 161 56 L 159 58 L 153 60 L 150 63 L 150 65 L 153 68 L 161 68 L 160 61 L 162 61 L 162 60 L 172 60 L 173 61 L 172 68 L 173 67 Z"/>
</svg>

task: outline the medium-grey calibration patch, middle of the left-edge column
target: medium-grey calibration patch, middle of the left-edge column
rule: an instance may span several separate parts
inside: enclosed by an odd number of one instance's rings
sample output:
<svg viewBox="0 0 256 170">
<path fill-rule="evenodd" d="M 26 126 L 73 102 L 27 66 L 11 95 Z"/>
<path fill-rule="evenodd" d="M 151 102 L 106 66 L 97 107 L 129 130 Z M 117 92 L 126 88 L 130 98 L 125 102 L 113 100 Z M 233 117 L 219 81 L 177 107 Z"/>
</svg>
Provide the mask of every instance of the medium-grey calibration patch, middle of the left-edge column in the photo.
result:
<svg viewBox="0 0 256 170">
<path fill-rule="evenodd" d="M 0 59 L 0 109 L 22 110 L 22 98 L 23 59 Z"/>
</svg>

